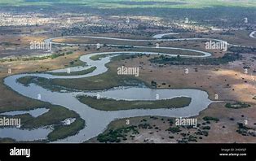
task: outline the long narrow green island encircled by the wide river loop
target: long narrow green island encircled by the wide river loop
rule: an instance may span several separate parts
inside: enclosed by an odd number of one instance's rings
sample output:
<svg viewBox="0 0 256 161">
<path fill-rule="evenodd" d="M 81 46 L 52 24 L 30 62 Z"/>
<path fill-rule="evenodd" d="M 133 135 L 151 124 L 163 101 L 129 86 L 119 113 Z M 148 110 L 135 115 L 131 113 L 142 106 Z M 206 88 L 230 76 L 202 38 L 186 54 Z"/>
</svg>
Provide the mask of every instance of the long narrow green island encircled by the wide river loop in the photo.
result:
<svg viewBox="0 0 256 161">
<path fill-rule="evenodd" d="M 191 98 L 172 98 L 167 100 L 155 100 L 155 101 L 126 101 L 126 100 L 114 100 L 108 98 L 100 98 L 90 96 L 78 96 L 78 100 L 85 103 L 89 107 L 104 110 L 104 111 L 117 111 L 128 109 L 155 109 L 155 108 L 179 108 L 187 107 L 191 102 Z"/>
</svg>

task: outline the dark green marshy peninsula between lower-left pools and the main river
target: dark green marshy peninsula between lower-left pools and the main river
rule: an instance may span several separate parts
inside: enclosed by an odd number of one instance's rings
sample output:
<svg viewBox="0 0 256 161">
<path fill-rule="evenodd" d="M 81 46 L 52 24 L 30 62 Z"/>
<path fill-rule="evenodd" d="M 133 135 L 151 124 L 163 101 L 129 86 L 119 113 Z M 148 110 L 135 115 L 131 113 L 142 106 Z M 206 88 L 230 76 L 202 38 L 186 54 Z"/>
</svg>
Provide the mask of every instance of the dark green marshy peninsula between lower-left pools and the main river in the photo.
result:
<svg viewBox="0 0 256 161">
<path fill-rule="evenodd" d="M 42 126 L 54 125 L 54 130 L 48 135 L 50 141 L 72 136 L 85 126 L 85 121 L 74 111 L 57 105 L 49 105 L 47 108 L 49 108 L 49 111 L 36 118 L 29 114 L 5 115 L 5 117 L 19 118 L 21 120 L 21 128 L 40 128 Z M 76 120 L 69 125 L 62 124 L 62 121 L 68 118 L 76 118 Z M 8 140 L 4 139 L 2 141 Z"/>
</svg>

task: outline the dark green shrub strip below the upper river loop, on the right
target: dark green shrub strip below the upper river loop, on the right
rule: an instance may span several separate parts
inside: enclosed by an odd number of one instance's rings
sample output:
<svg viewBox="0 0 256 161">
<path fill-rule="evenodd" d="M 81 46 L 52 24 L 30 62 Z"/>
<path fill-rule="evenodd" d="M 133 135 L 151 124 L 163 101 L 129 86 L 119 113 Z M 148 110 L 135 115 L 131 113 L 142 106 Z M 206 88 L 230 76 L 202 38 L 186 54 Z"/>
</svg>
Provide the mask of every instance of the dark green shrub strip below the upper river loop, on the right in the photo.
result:
<svg viewBox="0 0 256 161">
<path fill-rule="evenodd" d="M 159 57 L 150 59 L 150 62 L 170 65 L 220 65 L 223 63 L 233 62 L 241 58 L 242 57 L 240 54 L 225 54 L 221 58 L 211 59 L 182 58 L 179 55 L 177 57 L 168 57 L 166 55 L 161 55 Z"/>
</svg>

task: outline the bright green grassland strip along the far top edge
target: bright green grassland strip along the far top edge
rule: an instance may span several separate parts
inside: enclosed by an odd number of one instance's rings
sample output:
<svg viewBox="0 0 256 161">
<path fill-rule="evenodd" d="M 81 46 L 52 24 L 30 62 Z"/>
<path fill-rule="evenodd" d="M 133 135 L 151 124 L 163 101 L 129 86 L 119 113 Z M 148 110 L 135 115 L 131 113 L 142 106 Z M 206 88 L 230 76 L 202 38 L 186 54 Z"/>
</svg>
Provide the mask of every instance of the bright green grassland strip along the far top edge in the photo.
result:
<svg viewBox="0 0 256 161">
<path fill-rule="evenodd" d="M 89 7 L 99 7 L 99 8 L 136 8 L 136 7 L 168 7 L 168 8 L 202 8 L 202 7 L 215 7 L 215 6 L 232 6 L 232 7 L 255 7 L 256 2 L 254 0 L 247 1 L 211 1 L 211 0 L 183 0 L 182 2 L 177 2 L 175 0 L 154 0 L 154 1 L 144 1 L 144 0 L 134 0 L 131 2 L 123 0 L 73 0 L 72 2 L 68 0 L 58 0 L 58 1 L 25 1 L 25 0 L 1 0 L 0 5 L 3 6 L 51 6 L 60 4 L 74 4 L 74 5 L 85 5 Z"/>
</svg>

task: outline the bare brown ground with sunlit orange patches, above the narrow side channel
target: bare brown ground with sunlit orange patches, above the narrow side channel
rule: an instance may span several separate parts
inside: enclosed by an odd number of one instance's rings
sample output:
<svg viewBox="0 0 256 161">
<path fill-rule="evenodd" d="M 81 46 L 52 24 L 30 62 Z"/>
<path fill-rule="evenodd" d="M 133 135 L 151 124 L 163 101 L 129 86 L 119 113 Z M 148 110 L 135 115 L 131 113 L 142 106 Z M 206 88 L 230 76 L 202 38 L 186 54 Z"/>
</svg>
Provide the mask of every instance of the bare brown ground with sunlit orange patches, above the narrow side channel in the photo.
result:
<svg viewBox="0 0 256 161">
<path fill-rule="evenodd" d="M 256 92 L 256 64 L 252 62 L 253 54 L 244 54 L 245 59 L 220 66 L 170 66 L 150 63 L 151 57 L 143 56 L 136 59 L 126 59 L 117 64 L 126 67 L 139 67 L 139 78 L 149 84 L 154 80 L 157 88 L 195 88 L 210 94 L 210 99 L 236 100 L 255 103 L 252 99 Z M 245 74 L 243 66 L 250 67 Z M 188 69 L 188 74 L 185 73 Z M 196 72 L 197 71 L 197 72 Z"/>
</svg>

